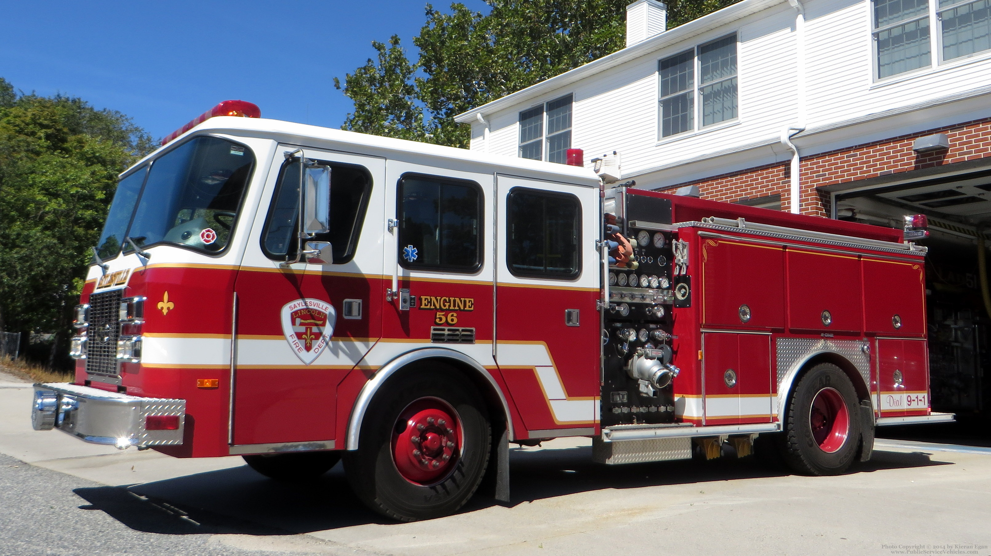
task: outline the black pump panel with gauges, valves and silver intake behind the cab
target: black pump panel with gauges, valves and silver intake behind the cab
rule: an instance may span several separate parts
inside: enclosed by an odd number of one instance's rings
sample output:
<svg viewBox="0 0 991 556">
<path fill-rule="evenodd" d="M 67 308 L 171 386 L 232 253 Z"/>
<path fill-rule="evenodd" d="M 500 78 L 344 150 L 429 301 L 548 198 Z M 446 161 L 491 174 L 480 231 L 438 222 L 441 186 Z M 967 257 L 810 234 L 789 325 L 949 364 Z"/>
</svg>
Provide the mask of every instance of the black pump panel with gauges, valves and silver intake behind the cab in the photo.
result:
<svg viewBox="0 0 991 556">
<path fill-rule="evenodd" d="M 628 242 L 632 254 L 625 261 L 625 257 L 612 258 L 606 278 L 609 303 L 603 330 L 603 426 L 675 420 L 672 382 L 678 370 L 671 364 L 673 232 L 657 224 L 660 219 L 656 215 L 663 214 L 665 207 L 658 206 L 654 212 L 650 207 L 651 203 L 669 201 L 637 197 L 636 203 L 638 212 L 655 217 L 637 221 L 606 214 L 606 224 L 610 224 L 606 229 L 613 232 L 606 239 L 621 245 Z"/>
</svg>

